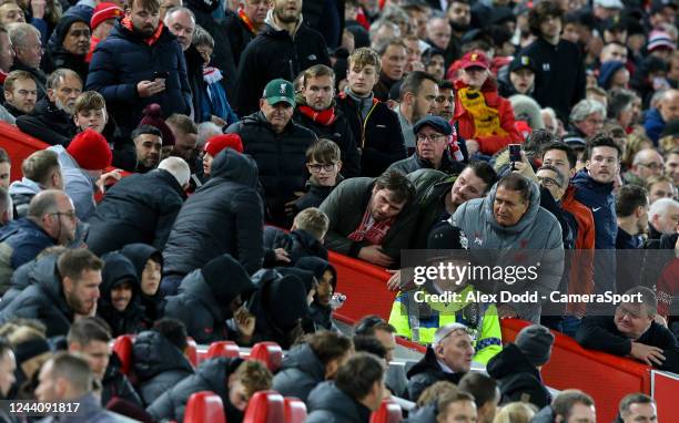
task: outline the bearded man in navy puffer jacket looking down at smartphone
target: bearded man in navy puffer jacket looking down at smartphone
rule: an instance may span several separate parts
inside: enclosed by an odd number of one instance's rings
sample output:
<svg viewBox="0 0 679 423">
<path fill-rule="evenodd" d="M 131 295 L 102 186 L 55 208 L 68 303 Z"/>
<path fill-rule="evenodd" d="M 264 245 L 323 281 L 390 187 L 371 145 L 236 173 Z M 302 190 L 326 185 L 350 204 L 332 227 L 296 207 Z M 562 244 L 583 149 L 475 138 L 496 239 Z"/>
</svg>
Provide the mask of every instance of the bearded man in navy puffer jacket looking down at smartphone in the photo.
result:
<svg viewBox="0 0 679 423">
<path fill-rule="evenodd" d="M 186 64 L 176 38 L 160 21 L 159 0 L 132 0 L 90 64 L 87 90 L 101 93 L 122 135 L 143 109 L 160 104 L 164 117 L 191 114 Z"/>
</svg>

